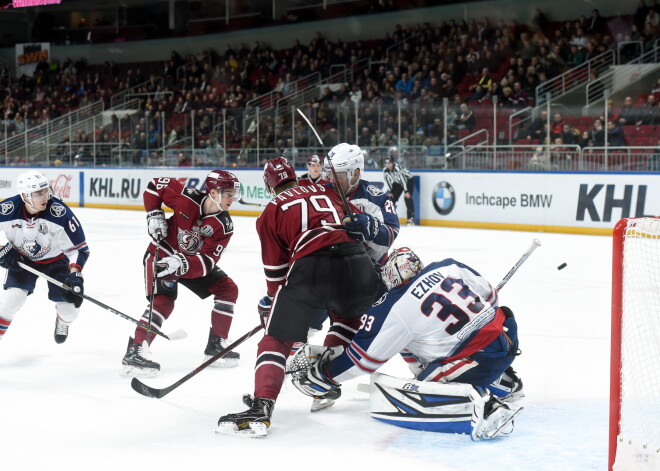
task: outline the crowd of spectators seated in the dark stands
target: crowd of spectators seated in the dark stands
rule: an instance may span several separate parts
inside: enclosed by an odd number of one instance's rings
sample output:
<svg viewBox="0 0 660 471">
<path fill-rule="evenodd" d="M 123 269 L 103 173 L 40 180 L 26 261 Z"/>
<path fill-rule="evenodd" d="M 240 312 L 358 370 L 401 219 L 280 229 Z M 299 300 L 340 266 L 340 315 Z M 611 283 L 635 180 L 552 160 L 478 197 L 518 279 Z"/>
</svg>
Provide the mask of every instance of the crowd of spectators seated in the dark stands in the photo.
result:
<svg viewBox="0 0 660 471">
<path fill-rule="evenodd" d="M 158 149 L 194 145 L 214 156 L 224 155 L 226 145 L 236 152 L 225 163 L 248 165 L 256 163 L 252 156 L 257 148 L 291 152 L 314 145 L 305 123 L 295 115 L 265 112 L 257 123 L 253 107 L 275 103 L 286 107 L 287 97 L 305 77 L 316 73 L 328 77 L 346 66 L 353 69 L 352 81 L 327 86 L 302 105 L 326 146 L 340 140 L 365 148 L 439 145 L 444 138 L 445 99 L 450 104 L 446 127 L 454 141 L 487 127 L 494 101 L 505 116 L 533 106 L 540 83 L 616 48 L 618 42 L 640 41 L 644 49 L 653 47 L 659 37 L 659 12 L 656 0 L 648 6 L 641 1 L 634 15 L 617 19 L 617 31 L 608 27 L 597 9 L 589 17 L 562 23 L 551 22 L 536 10 L 527 25 L 515 20 L 493 23 L 489 18 L 447 20 L 437 25 L 397 25 L 384 38 L 354 43 L 330 41 L 317 33 L 309 44 L 296 40 L 285 50 L 257 42 L 253 47 L 230 46 L 222 53 L 208 49 L 185 58 L 172 51 L 165 63 L 42 62 L 34 76 L 12 82 L 0 95 L 0 138 L 5 133 L 20 135 L 96 100 L 108 108 L 113 95 L 130 90 L 141 102 L 137 113 L 99 123 L 93 135 L 67 136 L 55 152 L 80 157 L 89 154 L 93 141 L 108 145 L 103 151 L 108 161 L 111 146 L 120 145 L 127 151 L 139 150 L 135 163 L 145 163 L 150 156 L 158 157 Z M 629 103 L 632 98 L 613 106 L 615 123 L 608 136 L 622 142 L 613 137 L 619 128 L 623 133 L 632 123 L 660 124 L 658 88 L 648 94 L 644 106 Z M 246 113 L 250 119 L 245 119 Z M 525 129 L 515 137 L 543 141 L 547 132 L 539 120 L 547 122 L 547 116 L 542 114 L 527 134 Z M 574 123 L 567 123 L 568 129 L 553 126 L 552 140 L 598 145 L 604 126 L 598 121 L 589 129 Z"/>
</svg>

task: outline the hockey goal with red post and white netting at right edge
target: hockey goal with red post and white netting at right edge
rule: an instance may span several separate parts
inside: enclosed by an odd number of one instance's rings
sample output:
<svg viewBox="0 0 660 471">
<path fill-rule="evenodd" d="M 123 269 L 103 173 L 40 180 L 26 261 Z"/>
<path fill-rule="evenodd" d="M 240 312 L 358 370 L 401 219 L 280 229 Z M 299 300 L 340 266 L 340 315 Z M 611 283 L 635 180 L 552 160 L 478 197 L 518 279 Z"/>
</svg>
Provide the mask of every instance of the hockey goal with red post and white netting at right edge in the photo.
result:
<svg viewBox="0 0 660 471">
<path fill-rule="evenodd" d="M 609 468 L 660 469 L 660 218 L 614 229 Z"/>
</svg>

